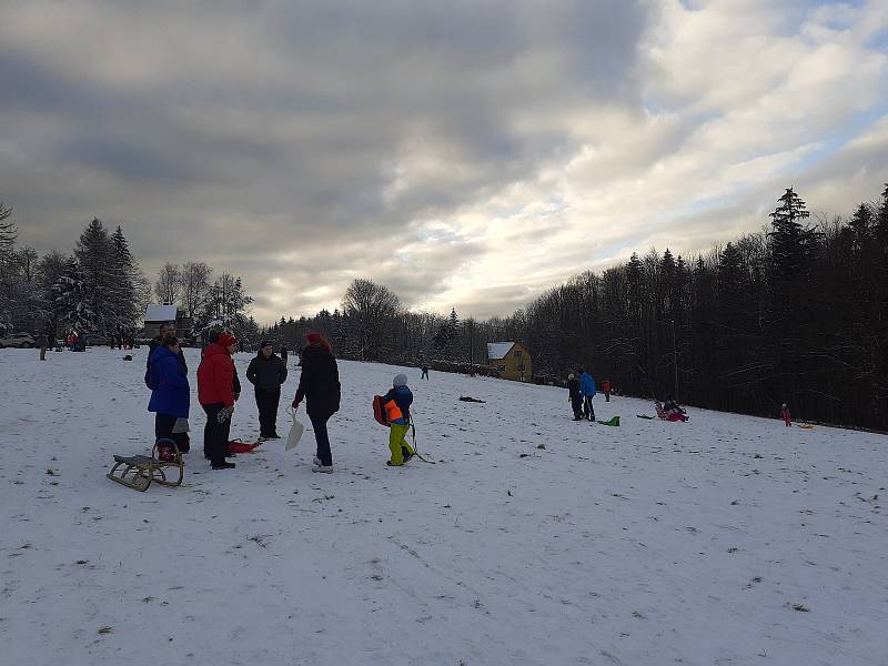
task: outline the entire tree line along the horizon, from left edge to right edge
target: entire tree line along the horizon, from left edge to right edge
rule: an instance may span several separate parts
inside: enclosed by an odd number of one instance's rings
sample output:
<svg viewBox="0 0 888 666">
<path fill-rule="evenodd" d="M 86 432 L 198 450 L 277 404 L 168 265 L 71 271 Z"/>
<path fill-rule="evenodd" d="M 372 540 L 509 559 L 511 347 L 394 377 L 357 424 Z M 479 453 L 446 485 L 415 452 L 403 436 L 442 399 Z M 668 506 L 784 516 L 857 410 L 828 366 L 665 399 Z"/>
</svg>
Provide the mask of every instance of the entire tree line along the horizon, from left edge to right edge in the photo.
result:
<svg viewBox="0 0 888 666">
<path fill-rule="evenodd" d="M 152 285 L 118 228 L 93 220 L 73 252 L 16 248 L 0 204 L 0 327 L 49 322 L 103 332 L 134 325 L 152 297 L 194 331 L 226 327 L 299 346 L 310 330 L 340 356 L 481 369 L 486 343 L 522 341 L 538 381 L 584 367 L 625 394 L 888 430 L 888 185 L 849 218 L 813 219 L 788 189 L 768 225 L 709 252 L 633 254 L 554 286 L 509 316 L 414 312 L 385 285 L 355 280 L 341 306 L 261 329 L 240 278 L 202 262 L 167 264 Z"/>
</svg>

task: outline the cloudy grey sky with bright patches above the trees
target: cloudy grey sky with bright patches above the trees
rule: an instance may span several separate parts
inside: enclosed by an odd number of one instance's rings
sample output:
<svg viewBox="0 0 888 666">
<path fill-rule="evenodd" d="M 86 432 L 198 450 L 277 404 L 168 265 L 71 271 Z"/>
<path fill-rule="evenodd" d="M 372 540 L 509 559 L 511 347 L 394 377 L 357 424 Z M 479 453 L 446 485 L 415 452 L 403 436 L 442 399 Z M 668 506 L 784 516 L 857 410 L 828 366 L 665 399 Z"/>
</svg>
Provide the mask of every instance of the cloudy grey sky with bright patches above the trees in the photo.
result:
<svg viewBox="0 0 888 666">
<path fill-rule="evenodd" d="M 4 0 L 0 87 L 22 243 L 98 215 L 265 322 L 354 278 L 507 314 L 888 181 L 888 0 Z"/>
</svg>

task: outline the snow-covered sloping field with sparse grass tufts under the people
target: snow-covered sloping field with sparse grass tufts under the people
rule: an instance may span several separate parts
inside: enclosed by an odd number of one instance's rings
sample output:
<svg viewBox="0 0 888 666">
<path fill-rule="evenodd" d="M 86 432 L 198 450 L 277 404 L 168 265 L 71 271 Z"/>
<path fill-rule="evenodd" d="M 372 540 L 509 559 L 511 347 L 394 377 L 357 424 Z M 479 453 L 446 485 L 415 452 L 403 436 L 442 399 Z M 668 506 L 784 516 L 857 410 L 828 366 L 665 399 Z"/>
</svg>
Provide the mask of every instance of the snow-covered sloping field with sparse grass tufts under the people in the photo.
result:
<svg viewBox="0 0 888 666">
<path fill-rule="evenodd" d="M 0 351 L 3 664 L 888 664 L 888 437 L 410 370 L 438 463 L 389 468 L 396 369 L 340 362 L 335 474 L 310 425 L 212 472 L 194 390 L 185 483 L 138 493 L 145 353 Z"/>
</svg>

